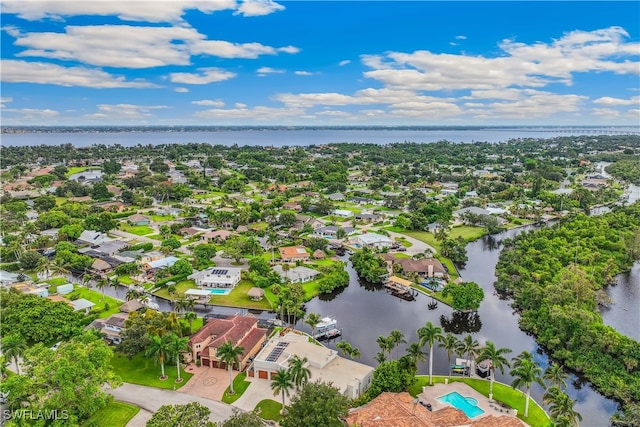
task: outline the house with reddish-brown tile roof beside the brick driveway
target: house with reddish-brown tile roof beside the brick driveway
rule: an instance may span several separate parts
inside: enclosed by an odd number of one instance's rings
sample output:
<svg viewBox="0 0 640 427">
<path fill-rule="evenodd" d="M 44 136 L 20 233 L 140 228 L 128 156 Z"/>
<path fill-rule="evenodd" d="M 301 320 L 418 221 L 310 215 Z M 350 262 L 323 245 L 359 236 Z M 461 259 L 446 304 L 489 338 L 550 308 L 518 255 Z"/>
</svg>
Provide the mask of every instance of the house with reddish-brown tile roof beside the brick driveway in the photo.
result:
<svg viewBox="0 0 640 427">
<path fill-rule="evenodd" d="M 202 366 L 226 369 L 227 366 L 216 356 L 218 348 L 231 342 L 234 347 L 244 349 L 238 357 L 239 370 L 243 371 L 254 357 L 267 337 L 267 330 L 258 327 L 258 319 L 252 316 L 229 316 L 225 319 L 209 321 L 189 338 L 191 360 L 199 360 Z M 238 368 L 234 366 L 234 369 Z"/>
</svg>

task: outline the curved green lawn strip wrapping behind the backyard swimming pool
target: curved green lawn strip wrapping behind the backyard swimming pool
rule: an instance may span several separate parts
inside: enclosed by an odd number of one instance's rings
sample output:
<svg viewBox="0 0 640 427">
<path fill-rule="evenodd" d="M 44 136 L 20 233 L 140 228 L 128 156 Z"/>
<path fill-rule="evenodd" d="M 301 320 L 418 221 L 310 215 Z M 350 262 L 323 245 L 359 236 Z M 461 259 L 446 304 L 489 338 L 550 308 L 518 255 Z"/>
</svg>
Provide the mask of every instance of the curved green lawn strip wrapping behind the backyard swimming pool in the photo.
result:
<svg viewBox="0 0 640 427">
<path fill-rule="evenodd" d="M 433 377 L 434 383 L 444 383 L 446 377 L 435 376 Z M 489 381 L 476 378 L 451 378 L 449 382 L 463 382 L 469 385 L 471 388 L 481 393 L 482 395 L 489 397 Z M 408 392 L 412 396 L 417 396 L 422 392 L 422 387 L 429 383 L 428 376 L 416 377 L 416 382 L 409 387 Z M 493 383 L 493 398 L 494 400 L 506 403 L 514 409 L 518 410 L 518 418 L 530 425 L 531 427 L 546 427 L 549 425 L 550 419 L 544 410 L 533 399 L 529 402 L 529 416 L 524 417 L 524 404 L 525 394 L 519 390 L 516 390 L 508 385 L 494 382 Z"/>
</svg>

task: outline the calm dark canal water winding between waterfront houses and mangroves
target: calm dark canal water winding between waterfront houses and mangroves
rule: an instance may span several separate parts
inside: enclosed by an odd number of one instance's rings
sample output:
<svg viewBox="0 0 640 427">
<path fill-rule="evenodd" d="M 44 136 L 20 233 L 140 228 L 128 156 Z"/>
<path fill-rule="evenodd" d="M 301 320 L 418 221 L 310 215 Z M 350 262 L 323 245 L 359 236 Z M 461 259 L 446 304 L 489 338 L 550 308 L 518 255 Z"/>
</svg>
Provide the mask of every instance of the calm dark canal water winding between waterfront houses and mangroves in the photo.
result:
<svg viewBox="0 0 640 427">
<path fill-rule="evenodd" d="M 502 241 L 516 234 L 531 229 L 525 227 L 508 230 L 494 236 L 485 236 L 467 246 L 469 261 L 460 273 L 465 281 L 478 283 L 485 291 L 485 299 L 482 302 L 477 316 L 465 317 L 454 314 L 453 310 L 440 303 L 434 310 L 428 308 L 431 298 L 420 294 L 415 301 L 404 301 L 391 294 L 382 287 L 372 287 L 361 283 L 356 272 L 347 264 L 347 271 L 351 277 L 350 284 L 336 294 L 328 297 L 317 297 L 307 303 L 307 312 L 316 312 L 322 316 L 332 316 L 343 329 L 342 338 L 353 346 L 358 347 L 362 354 L 361 361 L 373 366 L 377 365 L 374 356 L 379 351 L 376 339 L 381 335 L 389 335 L 391 330 L 399 329 L 405 335 L 408 343 L 417 341 L 417 329 L 430 321 L 442 327 L 445 332 L 452 332 L 458 338 L 463 338 L 471 333 L 475 339 L 483 344 L 487 340 L 493 341 L 498 347 L 507 347 L 513 350 L 510 357 L 516 356 L 521 351 L 530 351 L 536 361 L 545 369 L 549 365 L 547 354 L 536 344 L 532 336 L 524 333 L 518 327 L 518 315 L 510 306 L 510 301 L 501 300 L 495 293 L 493 283 L 495 281 L 495 266 L 502 250 Z M 345 258 L 346 260 L 346 258 Z M 625 304 L 637 304 L 638 278 L 640 268 L 636 264 L 634 270 L 628 273 L 626 282 L 620 283 L 611 289 L 622 292 L 625 299 L 629 292 L 635 292 L 635 299 L 626 298 Z M 635 281 L 635 282 L 634 282 Z M 625 283 L 628 283 L 626 285 Z M 635 284 L 634 284 L 635 283 Z M 616 298 L 615 293 L 613 298 Z M 610 317 L 629 323 L 629 313 L 613 304 L 610 309 Z M 302 322 L 297 328 L 310 332 L 309 326 Z M 622 332 L 622 330 L 621 330 Z M 330 341 L 327 345 L 335 348 L 338 340 Z M 398 354 L 402 355 L 407 344 L 402 344 Z M 392 353 L 395 356 L 395 351 Z M 454 356 L 455 357 L 455 356 Z M 446 375 L 448 373 L 447 354 L 441 348 L 434 350 L 433 369 L 435 374 Z M 422 363 L 419 373 L 427 374 L 428 365 Z M 510 384 L 511 376 L 508 372 L 501 374 L 496 372 L 498 381 Z M 542 401 L 544 390 L 535 385 L 532 387 L 531 396 L 538 402 Z M 572 399 L 577 400 L 575 409 L 582 415 L 583 426 L 601 427 L 608 425 L 609 417 L 616 411 L 618 405 L 615 401 L 607 399 L 595 391 L 590 383 L 571 375 L 571 381 L 567 393 Z"/>
</svg>

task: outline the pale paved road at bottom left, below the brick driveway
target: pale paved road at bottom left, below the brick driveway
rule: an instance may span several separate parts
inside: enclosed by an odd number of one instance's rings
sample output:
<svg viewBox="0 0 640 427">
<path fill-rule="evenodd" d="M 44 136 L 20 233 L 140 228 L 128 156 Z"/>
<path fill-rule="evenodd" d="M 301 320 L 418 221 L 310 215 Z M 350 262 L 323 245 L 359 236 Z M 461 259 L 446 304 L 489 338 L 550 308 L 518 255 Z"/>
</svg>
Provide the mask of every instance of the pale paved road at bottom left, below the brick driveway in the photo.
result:
<svg viewBox="0 0 640 427">
<path fill-rule="evenodd" d="M 211 409 L 209 420 L 213 422 L 224 421 L 233 414 L 233 407 L 226 403 L 171 390 L 123 383 L 120 387 L 107 390 L 107 392 L 113 395 L 116 400 L 131 403 L 152 413 L 155 413 L 162 405 L 184 405 L 189 402 L 198 402 Z"/>
</svg>

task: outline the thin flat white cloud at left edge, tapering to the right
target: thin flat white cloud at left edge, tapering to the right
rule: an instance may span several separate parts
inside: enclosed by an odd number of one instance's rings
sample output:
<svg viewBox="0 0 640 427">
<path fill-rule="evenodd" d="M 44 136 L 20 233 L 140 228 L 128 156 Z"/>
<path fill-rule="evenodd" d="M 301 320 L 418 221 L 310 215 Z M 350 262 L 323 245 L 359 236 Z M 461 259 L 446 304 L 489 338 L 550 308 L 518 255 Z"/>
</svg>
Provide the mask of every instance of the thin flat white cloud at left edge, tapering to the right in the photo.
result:
<svg viewBox="0 0 640 427">
<path fill-rule="evenodd" d="M 145 81 L 129 81 L 102 70 L 87 67 L 61 67 L 45 62 L 26 62 L 3 59 L 2 81 L 5 83 L 37 83 L 58 86 L 84 86 L 104 88 L 154 88 Z"/>
</svg>

